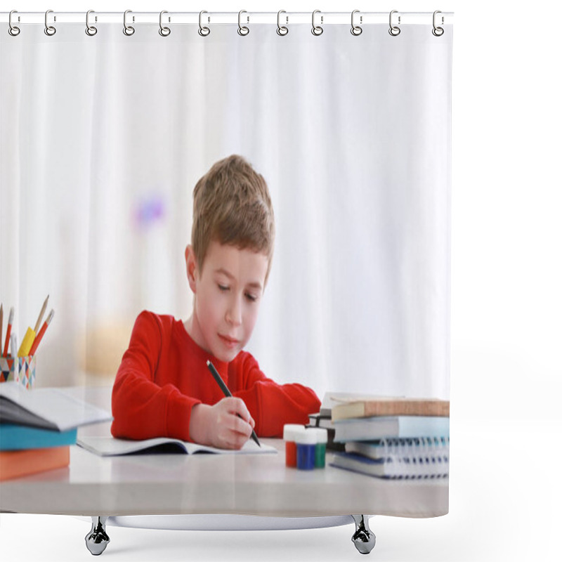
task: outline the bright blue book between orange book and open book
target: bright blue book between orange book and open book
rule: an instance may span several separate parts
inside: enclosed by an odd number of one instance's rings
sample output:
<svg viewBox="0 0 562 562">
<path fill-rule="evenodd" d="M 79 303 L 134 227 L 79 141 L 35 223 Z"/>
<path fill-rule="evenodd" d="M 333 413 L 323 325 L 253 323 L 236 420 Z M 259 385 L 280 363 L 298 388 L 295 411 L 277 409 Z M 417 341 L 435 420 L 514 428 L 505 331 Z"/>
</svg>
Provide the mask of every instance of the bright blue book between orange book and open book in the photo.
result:
<svg viewBox="0 0 562 562">
<path fill-rule="evenodd" d="M 76 443 L 77 428 L 53 431 L 15 424 L 0 424 L 0 451 L 44 449 Z"/>
</svg>

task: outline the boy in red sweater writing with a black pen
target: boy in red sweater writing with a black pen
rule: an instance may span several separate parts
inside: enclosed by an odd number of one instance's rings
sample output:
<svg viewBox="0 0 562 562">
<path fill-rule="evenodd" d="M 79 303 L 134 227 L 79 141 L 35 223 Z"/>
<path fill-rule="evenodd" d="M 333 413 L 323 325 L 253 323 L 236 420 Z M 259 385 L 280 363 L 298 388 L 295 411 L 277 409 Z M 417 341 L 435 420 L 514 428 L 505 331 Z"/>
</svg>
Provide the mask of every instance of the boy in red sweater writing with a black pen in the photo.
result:
<svg viewBox="0 0 562 562">
<path fill-rule="evenodd" d="M 240 449 L 252 429 L 282 437 L 283 424 L 306 424 L 320 410 L 311 388 L 275 383 L 242 351 L 257 320 L 274 237 L 263 177 L 240 156 L 216 162 L 193 192 L 192 244 L 185 249 L 192 315 L 183 323 L 138 315 L 113 385 L 113 436 Z M 232 398 L 224 397 L 207 360 Z"/>
</svg>

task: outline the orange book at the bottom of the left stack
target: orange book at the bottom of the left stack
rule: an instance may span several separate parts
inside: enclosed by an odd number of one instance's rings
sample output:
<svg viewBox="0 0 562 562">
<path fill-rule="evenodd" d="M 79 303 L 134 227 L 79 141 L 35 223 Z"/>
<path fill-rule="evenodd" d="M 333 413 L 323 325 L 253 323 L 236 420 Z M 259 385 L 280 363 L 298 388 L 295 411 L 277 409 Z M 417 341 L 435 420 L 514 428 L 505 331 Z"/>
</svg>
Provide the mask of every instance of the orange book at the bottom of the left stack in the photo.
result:
<svg viewBox="0 0 562 562">
<path fill-rule="evenodd" d="M 48 447 L 22 451 L 0 451 L 0 481 L 70 464 L 70 447 Z"/>
</svg>

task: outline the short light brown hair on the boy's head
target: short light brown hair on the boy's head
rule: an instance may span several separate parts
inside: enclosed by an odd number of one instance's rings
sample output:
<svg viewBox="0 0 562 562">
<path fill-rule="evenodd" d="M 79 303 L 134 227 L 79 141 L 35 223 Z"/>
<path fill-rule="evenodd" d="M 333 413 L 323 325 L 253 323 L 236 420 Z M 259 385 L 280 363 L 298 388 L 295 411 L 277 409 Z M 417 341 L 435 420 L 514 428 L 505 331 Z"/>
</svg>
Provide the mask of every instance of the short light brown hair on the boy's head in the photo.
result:
<svg viewBox="0 0 562 562">
<path fill-rule="evenodd" d="M 200 270 L 211 241 L 273 258 L 275 218 L 268 186 L 242 156 L 219 160 L 193 190 L 191 244 Z"/>
</svg>

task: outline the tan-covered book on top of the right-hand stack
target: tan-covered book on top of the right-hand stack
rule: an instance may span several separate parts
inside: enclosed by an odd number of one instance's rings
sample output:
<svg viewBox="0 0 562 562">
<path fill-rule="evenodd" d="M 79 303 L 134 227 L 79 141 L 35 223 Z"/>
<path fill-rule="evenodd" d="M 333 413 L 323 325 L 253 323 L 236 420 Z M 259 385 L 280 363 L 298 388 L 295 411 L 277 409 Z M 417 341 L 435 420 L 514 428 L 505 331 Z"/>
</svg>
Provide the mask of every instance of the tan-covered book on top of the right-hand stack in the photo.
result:
<svg viewBox="0 0 562 562">
<path fill-rule="evenodd" d="M 449 416 L 449 400 L 438 398 L 379 397 L 365 400 L 339 399 L 332 406 L 332 419 L 371 416 Z"/>
</svg>

